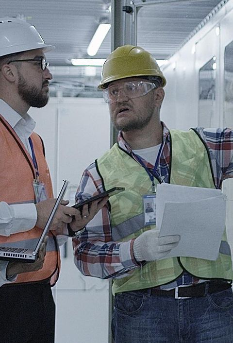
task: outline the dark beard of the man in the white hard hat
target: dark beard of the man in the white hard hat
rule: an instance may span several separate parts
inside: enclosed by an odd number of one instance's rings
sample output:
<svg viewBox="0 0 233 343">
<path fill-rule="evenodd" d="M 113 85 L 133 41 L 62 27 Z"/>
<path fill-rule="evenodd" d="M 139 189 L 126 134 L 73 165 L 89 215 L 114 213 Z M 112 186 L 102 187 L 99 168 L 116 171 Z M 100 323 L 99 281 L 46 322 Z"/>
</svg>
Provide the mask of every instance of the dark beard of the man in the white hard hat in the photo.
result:
<svg viewBox="0 0 233 343">
<path fill-rule="evenodd" d="M 35 86 L 28 86 L 22 74 L 18 71 L 18 94 L 22 100 L 31 107 L 44 107 L 49 101 L 49 95 L 45 95 Z M 48 81 L 46 81 L 48 83 Z M 43 86 L 43 85 L 42 85 Z"/>
</svg>

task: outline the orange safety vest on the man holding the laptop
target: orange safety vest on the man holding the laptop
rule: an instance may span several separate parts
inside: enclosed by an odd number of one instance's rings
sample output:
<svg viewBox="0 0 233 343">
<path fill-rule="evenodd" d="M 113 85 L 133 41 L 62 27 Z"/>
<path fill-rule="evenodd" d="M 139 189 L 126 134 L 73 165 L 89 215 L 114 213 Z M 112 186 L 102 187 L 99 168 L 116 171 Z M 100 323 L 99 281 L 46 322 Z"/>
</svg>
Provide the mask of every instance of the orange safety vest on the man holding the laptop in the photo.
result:
<svg viewBox="0 0 233 343">
<path fill-rule="evenodd" d="M 41 138 L 33 132 L 33 149 L 38 165 L 39 178 L 46 185 L 49 198 L 53 197 L 49 168 L 43 152 Z M 35 203 L 33 160 L 13 128 L 0 115 L 0 201 L 8 204 Z M 33 227 L 26 232 L 0 236 L 0 244 L 19 242 L 18 246 L 34 248 L 41 235 L 41 228 Z M 16 283 L 50 279 L 53 286 L 60 270 L 59 245 L 51 231 L 47 242 L 47 252 L 43 268 L 36 272 L 18 274 Z"/>
</svg>

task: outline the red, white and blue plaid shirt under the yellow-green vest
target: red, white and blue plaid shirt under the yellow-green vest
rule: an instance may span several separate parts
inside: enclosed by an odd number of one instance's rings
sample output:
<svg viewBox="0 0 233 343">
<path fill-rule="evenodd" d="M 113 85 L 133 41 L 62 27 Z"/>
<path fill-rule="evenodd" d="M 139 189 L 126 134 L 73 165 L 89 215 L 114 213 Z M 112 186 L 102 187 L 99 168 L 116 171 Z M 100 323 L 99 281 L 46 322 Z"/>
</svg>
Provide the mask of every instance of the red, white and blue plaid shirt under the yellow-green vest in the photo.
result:
<svg viewBox="0 0 233 343">
<path fill-rule="evenodd" d="M 159 158 L 158 174 L 163 182 L 168 182 L 170 162 L 170 134 L 166 125 L 163 125 L 163 148 Z M 231 129 L 203 129 L 196 128 L 200 137 L 206 142 L 214 172 L 214 181 L 217 189 L 225 178 L 233 177 L 233 130 Z M 121 132 L 118 135 L 119 146 L 132 155 L 136 160 L 131 147 L 124 140 Z M 142 159 L 144 164 L 153 169 L 153 165 Z M 143 168 L 143 167 L 142 167 Z M 76 202 L 89 198 L 94 192 L 102 192 L 103 184 L 92 163 L 84 172 Z M 87 224 L 84 233 L 73 240 L 74 261 L 78 269 L 88 276 L 100 278 L 120 278 L 135 268 L 140 268 L 133 257 L 133 241 L 115 242 L 112 239 L 110 214 L 104 206 L 97 215 Z M 197 277 L 184 272 L 170 284 L 160 286 L 161 289 L 171 289 L 180 285 L 191 285 L 203 282 Z M 206 281 L 206 280 L 205 280 Z"/>
</svg>

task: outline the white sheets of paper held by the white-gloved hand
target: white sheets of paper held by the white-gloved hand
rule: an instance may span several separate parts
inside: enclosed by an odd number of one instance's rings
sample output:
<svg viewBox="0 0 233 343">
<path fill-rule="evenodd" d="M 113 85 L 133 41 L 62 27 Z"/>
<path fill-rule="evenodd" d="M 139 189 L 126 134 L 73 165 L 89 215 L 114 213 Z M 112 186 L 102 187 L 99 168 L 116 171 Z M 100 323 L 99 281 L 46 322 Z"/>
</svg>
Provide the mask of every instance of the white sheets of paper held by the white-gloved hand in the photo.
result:
<svg viewBox="0 0 233 343">
<path fill-rule="evenodd" d="M 171 184 L 158 185 L 156 195 L 159 236 L 181 236 L 166 257 L 216 260 L 225 227 L 226 196 L 219 189 Z"/>
</svg>

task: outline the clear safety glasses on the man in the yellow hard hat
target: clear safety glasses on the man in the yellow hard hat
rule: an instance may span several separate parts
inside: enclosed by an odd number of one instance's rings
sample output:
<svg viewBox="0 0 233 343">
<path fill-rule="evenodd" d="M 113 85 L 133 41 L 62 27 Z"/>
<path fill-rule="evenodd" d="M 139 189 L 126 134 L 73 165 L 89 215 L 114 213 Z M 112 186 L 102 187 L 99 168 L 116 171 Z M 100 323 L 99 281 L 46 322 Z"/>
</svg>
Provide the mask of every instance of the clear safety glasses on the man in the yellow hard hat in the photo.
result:
<svg viewBox="0 0 233 343">
<path fill-rule="evenodd" d="M 123 91 L 125 96 L 129 98 L 139 98 L 146 95 L 157 86 L 152 82 L 146 81 L 126 81 L 124 83 L 109 86 L 103 90 L 103 99 L 105 103 L 116 103 L 120 91 Z"/>
</svg>

